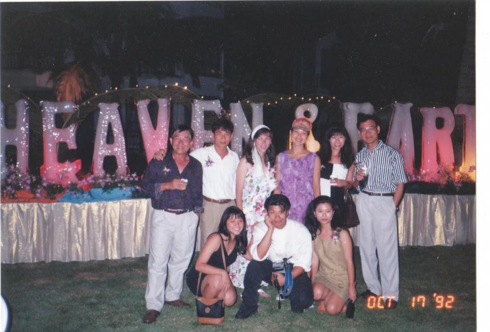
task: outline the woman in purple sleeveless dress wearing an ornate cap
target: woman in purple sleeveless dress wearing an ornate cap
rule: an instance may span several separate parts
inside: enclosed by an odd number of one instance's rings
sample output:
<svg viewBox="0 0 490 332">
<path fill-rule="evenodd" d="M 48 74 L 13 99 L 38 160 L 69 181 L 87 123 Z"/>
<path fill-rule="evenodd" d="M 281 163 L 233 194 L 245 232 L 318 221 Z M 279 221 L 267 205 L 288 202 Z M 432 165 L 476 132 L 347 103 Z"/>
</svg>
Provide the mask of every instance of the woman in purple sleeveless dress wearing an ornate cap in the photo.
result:
<svg viewBox="0 0 490 332">
<path fill-rule="evenodd" d="M 279 189 L 276 194 L 286 195 L 291 201 L 288 217 L 304 222 L 308 203 L 320 195 L 320 158 L 306 149 L 306 139 L 311 122 L 298 118 L 292 122 L 291 148 L 276 158 L 276 178 Z"/>
</svg>

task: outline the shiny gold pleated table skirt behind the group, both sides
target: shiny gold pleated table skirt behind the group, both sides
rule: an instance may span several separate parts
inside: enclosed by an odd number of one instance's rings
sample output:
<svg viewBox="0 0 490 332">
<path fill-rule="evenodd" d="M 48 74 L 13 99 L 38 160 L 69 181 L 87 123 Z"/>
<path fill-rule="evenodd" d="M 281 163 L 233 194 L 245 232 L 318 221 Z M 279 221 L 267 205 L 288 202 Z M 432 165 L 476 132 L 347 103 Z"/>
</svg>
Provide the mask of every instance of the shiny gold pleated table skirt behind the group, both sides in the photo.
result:
<svg viewBox="0 0 490 332">
<path fill-rule="evenodd" d="M 149 252 L 150 199 L 0 207 L 2 263 L 119 259 Z M 358 245 L 356 228 L 351 234 Z M 405 194 L 398 238 L 401 246 L 475 243 L 475 196 Z"/>
</svg>

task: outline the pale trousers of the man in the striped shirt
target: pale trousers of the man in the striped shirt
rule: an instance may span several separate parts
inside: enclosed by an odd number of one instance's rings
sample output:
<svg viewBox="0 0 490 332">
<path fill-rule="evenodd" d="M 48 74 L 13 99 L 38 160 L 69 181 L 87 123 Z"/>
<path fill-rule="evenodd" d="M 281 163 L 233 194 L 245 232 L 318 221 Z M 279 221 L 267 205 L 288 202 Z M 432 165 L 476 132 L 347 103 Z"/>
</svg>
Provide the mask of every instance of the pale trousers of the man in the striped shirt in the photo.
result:
<svg viewBox="0 0 490 332">
<path fill-rule="evenodd" d="M 398 301 L 398 227 L 393 196 L 369 196 L 361 192 L 356 210 L 360 221 L 359 249 L 364 282 L 373 293 Z"/>
</svg>

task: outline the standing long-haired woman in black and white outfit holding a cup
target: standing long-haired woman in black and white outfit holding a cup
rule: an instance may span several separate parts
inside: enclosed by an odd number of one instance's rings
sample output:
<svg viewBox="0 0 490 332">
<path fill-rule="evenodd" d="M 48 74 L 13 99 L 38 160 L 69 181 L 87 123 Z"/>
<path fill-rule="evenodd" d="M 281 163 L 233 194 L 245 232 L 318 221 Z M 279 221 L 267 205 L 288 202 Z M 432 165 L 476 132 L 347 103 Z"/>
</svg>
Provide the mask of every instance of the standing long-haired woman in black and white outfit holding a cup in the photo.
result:
<svg viewBox="0 0 490 332">
<path fill-rule="evenodd" d="M 318 155 L 322 163 L 320 191 L 322 195 L 332 197 L 340 209 L 340 216 L 344 217 L 344 188 L 352 187 L 355 168 L 351 138 L 345 127 L 334 126 L 327 131 Z"/>
</svg>

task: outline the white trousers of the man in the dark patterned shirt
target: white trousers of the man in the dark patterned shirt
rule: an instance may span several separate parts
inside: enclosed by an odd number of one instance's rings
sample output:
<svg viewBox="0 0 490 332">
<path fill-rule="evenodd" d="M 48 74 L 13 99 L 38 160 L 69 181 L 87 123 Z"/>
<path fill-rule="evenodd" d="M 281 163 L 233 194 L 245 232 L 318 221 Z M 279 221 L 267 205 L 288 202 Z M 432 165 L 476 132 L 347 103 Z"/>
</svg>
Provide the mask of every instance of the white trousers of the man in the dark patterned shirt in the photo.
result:
<svg viewBox="0 0 490 332">
<path fill-rule="evenodd" d="M 198 216 L 194 212 L 177 215 L 153 210 L 148 283 L 144 294 L 147 310 L 161 311 L 165 300 L 180 298 L 184 272 L 192 258 L 197 226 Z"/>
</svg>

